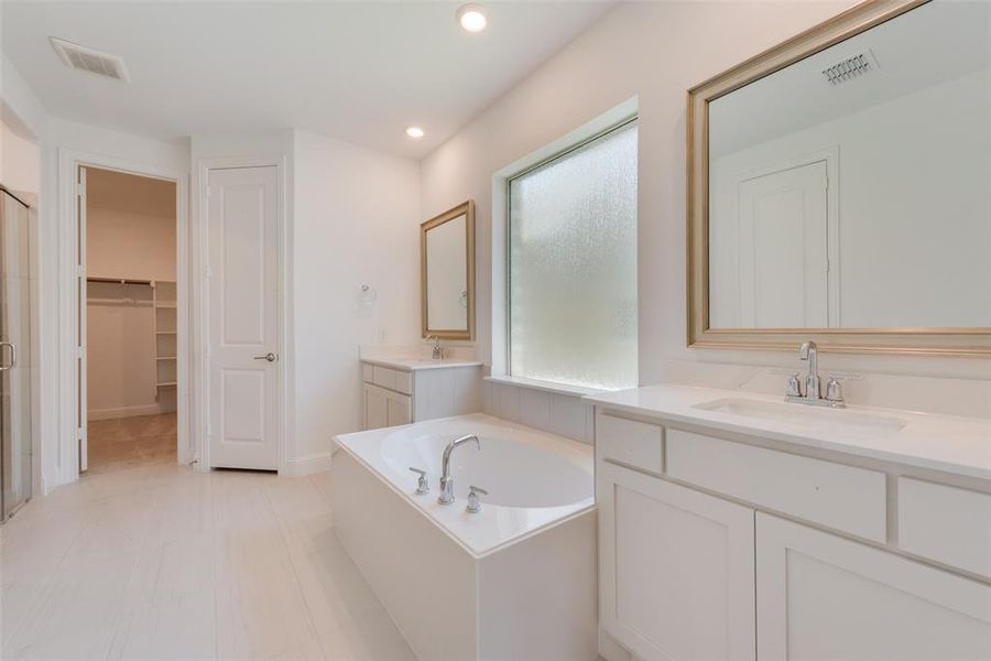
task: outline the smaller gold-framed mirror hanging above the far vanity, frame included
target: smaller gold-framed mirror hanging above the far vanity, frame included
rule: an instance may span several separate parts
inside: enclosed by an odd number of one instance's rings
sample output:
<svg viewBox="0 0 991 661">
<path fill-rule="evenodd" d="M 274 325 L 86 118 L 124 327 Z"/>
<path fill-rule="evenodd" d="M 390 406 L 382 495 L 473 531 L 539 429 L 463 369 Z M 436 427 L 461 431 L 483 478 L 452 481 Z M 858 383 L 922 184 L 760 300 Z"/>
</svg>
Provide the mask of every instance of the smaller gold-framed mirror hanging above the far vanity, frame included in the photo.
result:
<svg viewBox="0 0 991 661">
<path fill-rule="evenodd" d="M 475 203 L 420 226 L 423 337 L 475 339 Z"/>
</svg>

